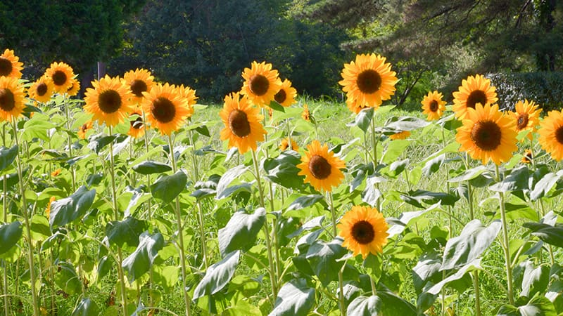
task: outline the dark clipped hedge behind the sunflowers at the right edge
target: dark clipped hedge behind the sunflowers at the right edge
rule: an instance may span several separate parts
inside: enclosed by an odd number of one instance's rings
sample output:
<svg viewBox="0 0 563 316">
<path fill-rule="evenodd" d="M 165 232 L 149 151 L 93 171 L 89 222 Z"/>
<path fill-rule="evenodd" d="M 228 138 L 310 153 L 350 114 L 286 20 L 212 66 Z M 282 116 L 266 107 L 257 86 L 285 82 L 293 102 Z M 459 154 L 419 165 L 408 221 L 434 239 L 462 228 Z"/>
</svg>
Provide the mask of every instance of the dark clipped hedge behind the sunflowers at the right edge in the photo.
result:
<svg viewBox="0 0 563 316">
<path fill-rule="evenodd" d="M 563 107 L 563 72 L 515 72 L 488 74 L 497 89 L 500 108 L 514 110 L 518 100 L 533 100 L 543 111 Z"/>
</svg>

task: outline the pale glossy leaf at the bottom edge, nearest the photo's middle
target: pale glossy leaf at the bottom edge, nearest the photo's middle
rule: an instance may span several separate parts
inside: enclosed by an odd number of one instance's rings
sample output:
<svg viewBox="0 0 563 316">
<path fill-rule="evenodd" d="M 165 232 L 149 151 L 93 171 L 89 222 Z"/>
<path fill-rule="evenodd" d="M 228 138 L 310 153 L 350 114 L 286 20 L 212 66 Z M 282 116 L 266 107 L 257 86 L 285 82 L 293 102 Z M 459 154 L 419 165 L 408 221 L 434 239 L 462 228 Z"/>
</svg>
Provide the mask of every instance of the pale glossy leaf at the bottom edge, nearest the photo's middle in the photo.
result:
<svg viewBox="0 0 563 316">
<path fill-rule="evenodd" d="M 277 294 L 274 310 L 268 316 L 306 316 L 315 305 L 315 289 L 305 279 L 292 279 Z"/>
</svg>

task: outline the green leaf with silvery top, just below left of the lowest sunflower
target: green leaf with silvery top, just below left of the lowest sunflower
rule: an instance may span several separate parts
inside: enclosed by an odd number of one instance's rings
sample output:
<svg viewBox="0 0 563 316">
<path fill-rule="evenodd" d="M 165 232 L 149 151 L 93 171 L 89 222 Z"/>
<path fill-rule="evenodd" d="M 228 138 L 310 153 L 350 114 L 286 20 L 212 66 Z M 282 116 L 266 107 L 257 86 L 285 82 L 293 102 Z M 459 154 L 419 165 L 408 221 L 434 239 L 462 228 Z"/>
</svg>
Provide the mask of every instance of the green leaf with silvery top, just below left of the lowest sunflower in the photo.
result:
<svg viewBox="0 0 563 316">
<path fill-rule="evenodd" d="M 344 265 L 344 261 L 337 261 L 348 253 L 342 247 L 342 239 L 336 238 L 331 242 L 316 240 L 307 251 L 307 260 L 315 275 L 319 277 L 322 285 L 327 287 L 331 281 L 338 277 L 338 272 Z"/>
</svg>

